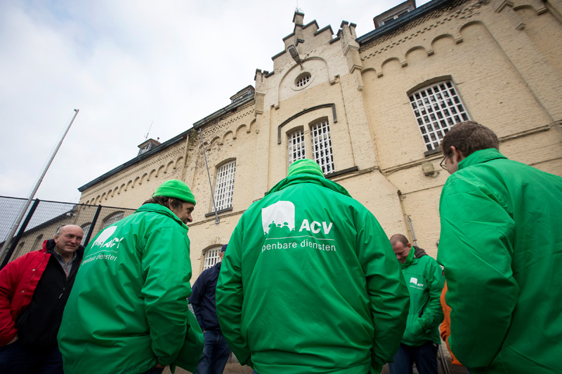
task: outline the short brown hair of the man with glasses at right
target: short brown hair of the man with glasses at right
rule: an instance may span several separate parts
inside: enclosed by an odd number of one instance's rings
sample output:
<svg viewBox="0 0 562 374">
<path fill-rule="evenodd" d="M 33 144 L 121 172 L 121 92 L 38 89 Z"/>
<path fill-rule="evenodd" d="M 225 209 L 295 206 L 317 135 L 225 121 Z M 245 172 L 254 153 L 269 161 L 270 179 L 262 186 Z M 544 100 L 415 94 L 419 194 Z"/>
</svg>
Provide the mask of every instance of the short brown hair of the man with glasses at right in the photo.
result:
<svg viewBox="0 0 562 374">
<path fill-rule="evenodd" d="M 466 157 L 481 149 L 499 149 L 499 140 L 486 126 L 475 121 L 464 121 L 452 126 L 443 138 L 440 148 L 445 156 L 449 156 L 453 146 Z"/>
</svg>

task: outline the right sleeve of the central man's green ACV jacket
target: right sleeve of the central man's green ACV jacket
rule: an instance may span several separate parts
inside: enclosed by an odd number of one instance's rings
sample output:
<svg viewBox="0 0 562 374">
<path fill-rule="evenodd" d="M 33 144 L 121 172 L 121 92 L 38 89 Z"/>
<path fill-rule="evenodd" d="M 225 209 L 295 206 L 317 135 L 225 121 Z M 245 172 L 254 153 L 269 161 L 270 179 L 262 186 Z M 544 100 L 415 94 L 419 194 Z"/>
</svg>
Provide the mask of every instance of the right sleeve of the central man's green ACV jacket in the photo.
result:
<svg viewBox="0 0 562 374">
<path fill-rule="evenodd" d="M 359 220 L 361 221 L 361 220 Z M 400 265 L 383 229 L 371 213 L 362 219 L 357 247 L 367 278 L 374 339 L 371 373 L 380 373 L 384 363 L 392 361 L 406 328 L 410 309 L 408 293 Z"/>
</svg>

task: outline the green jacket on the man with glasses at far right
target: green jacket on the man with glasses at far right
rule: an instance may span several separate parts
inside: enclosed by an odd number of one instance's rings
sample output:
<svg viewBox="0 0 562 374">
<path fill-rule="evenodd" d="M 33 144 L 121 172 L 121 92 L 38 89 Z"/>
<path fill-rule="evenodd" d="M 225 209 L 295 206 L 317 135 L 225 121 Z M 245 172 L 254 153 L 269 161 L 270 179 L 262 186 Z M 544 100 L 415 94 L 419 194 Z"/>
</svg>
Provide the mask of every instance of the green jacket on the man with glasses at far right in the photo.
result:
<svg viewBox="0 0 562 374">
<path fill-rule="evenodd" d="M 562 373 L 562 178 L 483 149 L 443 187 L 452 352 L 474 373 Z"/>
</svg>

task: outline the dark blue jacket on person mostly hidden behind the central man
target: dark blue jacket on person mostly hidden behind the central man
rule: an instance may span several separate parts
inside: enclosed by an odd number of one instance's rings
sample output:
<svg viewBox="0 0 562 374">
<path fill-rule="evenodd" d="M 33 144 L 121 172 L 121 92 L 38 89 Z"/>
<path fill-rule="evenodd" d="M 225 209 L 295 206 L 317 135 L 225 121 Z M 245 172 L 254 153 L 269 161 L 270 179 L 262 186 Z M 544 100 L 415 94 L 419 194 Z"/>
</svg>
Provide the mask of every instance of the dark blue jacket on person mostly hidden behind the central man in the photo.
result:
<svg viewBox="0 0 562 374">
<path fill-rule="evenodd" d="M 216 318 L 215 290 L 218 273 L 221 272 L 221 263 L 210 267 L 201 273 L 192 287 L 189 302 L 202 330 L 221 330 Z"/>
</svg>

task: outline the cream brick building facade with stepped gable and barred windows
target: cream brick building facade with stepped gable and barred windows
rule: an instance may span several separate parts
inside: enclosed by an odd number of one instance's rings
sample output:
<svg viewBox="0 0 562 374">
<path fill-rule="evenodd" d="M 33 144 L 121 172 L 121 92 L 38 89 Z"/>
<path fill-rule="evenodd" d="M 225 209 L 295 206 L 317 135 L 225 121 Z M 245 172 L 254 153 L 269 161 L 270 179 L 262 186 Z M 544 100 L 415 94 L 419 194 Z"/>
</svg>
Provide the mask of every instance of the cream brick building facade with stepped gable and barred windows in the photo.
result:
<svg viewBox="0 0 562 374">
<path fill-rule="evenodd" d="M 363 36 L 353 23 L 334 34 L 295 13 L 285 49 L 272 70 L 256 70 L 254 86 L 80 187 L 80 202 L 136 208 L 164 180 L 184 180 L 197 199 L 189 232 L 195 280 L 250 204 L 306 157 L 388 236 L 404 233 L 434 257 L 448 176 L 438 144 L 454 123 L 478 121 L 510 159 L 562 175 L 562 1 L 411 8 Z"/>
</svg>

